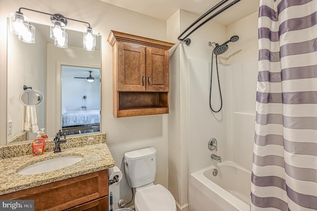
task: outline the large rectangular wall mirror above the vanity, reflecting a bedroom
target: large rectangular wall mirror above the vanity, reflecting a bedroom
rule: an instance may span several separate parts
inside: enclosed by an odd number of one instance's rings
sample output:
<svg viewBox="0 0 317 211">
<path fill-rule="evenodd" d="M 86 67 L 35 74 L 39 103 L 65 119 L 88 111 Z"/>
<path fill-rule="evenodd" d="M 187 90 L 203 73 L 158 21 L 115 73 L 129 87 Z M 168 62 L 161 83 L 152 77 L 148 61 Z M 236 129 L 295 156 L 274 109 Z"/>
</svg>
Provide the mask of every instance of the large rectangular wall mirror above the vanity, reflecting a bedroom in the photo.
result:
<svg viewBox="0 0 317 211">
<path fill-rule="evenodd" d="M 24 130 L 26 105 L 36 108 L 38 128 L 46 128 L 45 131 L 49 137 L 54 137 L 58 129 L 62 128 L 64 102 L 62 84 L 66 83 L 66 79 L 64 81 L 62 76 L 62 66 L 98 69 L 98 73 L 92 72 L 92 77 L 101 77 L 101 36 L 96 36 L 95 51 L 89 52 L 83 49 L 83 33 L 66 28 L 68 48 L 62 49 L 54 46 L 50 38 L 50 26 L 38 23 L 32 23 L 32 25 L 36 28 L 35 44 L 19 41 L 17 35 L 10 33 L 9 26 L 7 28 L 7 121 L 12 121 L 11 133 L 7 134 L 7 143 L 33 140 L 36 137 L 36 133 Z M 73 77 L 87 79 L 89 72 L 80 68 L 77 69 L 76 74 L 72 73 Z M 84 79 L 76 81 L 81 81 L 82 84 L 84 81 L 87 82 Z M 95 88 L 98 86 L 100 91 L 100 79 L 95 80 L 94 83 Z M 23 92 L 23 85 L 32 87 L 32 90 Z M 88 89 L 90 88 L 87 87 Z M 23 104 L 20 103 L 20 95 Z M 87 106 L 87 111 L 100 110 L 100 92 L 94 92 L 93 95 L 82 92 L 80 95 L 81 98 L 87 96 L 87 104 L 88 101 L 98 104 L 96 107 Z M 71 94 L 67 96 L 69 99 L 74 97 Z M 68 111 L 82 110 L 81 106 L 83 106 L 82 99 L 77 107 L 68 108 Z M 64 107 L 67 109 L 67 106 Z M 97 130 L 95 126 L 94 129 L 77 130 L 72 134 L 83 133 L 83 131 L 95 132 Z"/>
</svg>

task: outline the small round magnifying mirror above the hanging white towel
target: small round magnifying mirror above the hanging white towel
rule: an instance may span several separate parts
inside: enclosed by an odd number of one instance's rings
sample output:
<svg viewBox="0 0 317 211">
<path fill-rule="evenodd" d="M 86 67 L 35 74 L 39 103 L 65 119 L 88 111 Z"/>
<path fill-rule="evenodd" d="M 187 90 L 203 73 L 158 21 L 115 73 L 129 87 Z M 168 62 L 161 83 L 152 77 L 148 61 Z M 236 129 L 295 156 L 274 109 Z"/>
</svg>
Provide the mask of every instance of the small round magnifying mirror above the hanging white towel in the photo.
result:
<svg viewBox="0 0 317 211">
<path fill-rule="evenodd" d="M 20 94 L 20 102 L 24 106 L 39 106 L 44 101 L 44 95 L 39 90 L 25 90 Z"/>
</svg>

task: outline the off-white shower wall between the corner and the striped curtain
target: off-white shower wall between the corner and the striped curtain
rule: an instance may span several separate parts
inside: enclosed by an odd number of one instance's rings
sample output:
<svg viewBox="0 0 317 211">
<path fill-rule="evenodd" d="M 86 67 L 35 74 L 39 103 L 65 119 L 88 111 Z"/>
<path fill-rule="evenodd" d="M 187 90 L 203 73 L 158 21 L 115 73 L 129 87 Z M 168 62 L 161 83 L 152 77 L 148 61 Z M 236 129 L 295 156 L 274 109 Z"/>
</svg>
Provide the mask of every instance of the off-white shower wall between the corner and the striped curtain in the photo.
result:
<svg viewBox="0 0 317 211">
<path fill-rule="evenodd" d="M 226 146 L 230 149 L 228 159 L 251 171 L 258 80 L 258 12 L 229 25 L 227 39 L 233 35 L 240 39 L 229 43 L 227 53 L 230 120 Z"/>
</svg>

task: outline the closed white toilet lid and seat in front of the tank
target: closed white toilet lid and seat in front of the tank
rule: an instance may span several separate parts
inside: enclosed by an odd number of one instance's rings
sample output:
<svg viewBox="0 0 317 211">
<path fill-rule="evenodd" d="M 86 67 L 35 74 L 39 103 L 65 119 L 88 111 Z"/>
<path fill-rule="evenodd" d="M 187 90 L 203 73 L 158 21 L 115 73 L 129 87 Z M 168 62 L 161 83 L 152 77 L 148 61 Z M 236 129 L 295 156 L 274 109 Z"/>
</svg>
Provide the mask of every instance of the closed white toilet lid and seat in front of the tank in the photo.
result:
<svg viewBox="0 0 317 211">
<path fill-rule="evenodd" d="M 134 205 L 138 211 L 176 211 L 174 197 L 160 184 L 139 189 Z"/>
</svg>

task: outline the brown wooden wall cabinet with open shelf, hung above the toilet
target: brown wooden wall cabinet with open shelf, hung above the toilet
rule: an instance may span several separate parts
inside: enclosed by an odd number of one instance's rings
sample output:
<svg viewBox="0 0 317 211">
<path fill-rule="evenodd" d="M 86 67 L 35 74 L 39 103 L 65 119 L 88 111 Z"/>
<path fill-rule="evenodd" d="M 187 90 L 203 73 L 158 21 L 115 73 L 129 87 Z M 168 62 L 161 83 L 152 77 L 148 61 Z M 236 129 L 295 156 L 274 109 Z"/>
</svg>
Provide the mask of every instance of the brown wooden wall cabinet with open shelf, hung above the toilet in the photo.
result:
<svg viewBox="0 0 317 211">
<path fill-rule="evenodd" d="M 116 117 L 169 112 L 171 43 L 111 31 L 113 115 Z"/>
</svg>

